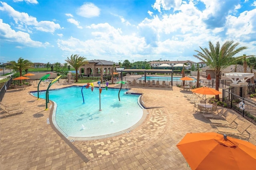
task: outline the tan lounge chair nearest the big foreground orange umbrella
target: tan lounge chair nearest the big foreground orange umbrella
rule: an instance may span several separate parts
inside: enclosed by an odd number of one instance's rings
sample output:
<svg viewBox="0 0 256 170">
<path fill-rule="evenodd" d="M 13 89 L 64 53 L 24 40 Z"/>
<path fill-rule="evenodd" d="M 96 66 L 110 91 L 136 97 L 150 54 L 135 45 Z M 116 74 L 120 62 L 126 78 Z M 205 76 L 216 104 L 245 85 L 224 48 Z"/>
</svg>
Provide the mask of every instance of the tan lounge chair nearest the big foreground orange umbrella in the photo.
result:
<svg viewBox="0 0 256 170">
<path fill-rule="evenodd" d="M 251 126 L 251 123 L 248 121 L 245 121 L 242 125 L 238 126 L 237 128 L 230 128 L 230 127 L 216 127 L 216 128 L 218 129 L 218 133 L 220 134 L 226 134 L 233 138 L 249 140 L 250 133 L 247 131 L 247 129 L 250 126 Z"/>
</svg>

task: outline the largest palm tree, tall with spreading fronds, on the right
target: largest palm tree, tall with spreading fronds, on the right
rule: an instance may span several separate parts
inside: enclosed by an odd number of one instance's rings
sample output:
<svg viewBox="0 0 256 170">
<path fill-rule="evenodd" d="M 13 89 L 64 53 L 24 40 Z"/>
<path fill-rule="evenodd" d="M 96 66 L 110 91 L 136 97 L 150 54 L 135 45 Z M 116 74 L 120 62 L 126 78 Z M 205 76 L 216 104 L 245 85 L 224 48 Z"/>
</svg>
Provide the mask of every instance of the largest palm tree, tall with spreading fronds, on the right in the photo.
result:
<svg viewBox="0 0 256 170">
<path fill-rule="evenodd" d="M 248 48 L 245 46 L 236 48 L 239 45 L 239 43 L 234 43 L 234 44 L 233 43 L 234 41 L 226 41 L 222 45 L 222 47 L 220 47 L 220 43 L 217 42 L 216 46 L 214 47 L 212 42 L 209 42 L 210 50 L 207 48 L 200 47 L 202 52 L 195 50 L 196 52 L 198 52 L 198 54 L 193 55 L 194 57 L 200 59 L 201 61 L 204 61 L 207 65 L 209 65 L 213 69 L 216 77 L 216 85 L 215 85 L 216 90 L 219 90 L 222 69 L 228 67 L 228 65 L 230 65 L 232 61 L 236 59 L 241 59 L 242 56 L 234 57 L 234 55 Z M 215 95 L 215 99 L 219 101 L 220 96 Z"/>
</svg>

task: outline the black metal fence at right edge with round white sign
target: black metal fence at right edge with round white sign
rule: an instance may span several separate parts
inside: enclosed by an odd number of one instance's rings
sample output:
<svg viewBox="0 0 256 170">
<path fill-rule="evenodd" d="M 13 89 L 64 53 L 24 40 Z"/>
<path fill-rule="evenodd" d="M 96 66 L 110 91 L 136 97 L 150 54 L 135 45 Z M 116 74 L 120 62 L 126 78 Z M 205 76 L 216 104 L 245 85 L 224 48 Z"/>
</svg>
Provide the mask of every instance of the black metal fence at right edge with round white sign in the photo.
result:
<svg viewBox="0 0 256 170">
<path fill-rule="evenodd" d="M 232 93 L 234 88 L 223 89 L 222 101 L 230 102 L 231 108 L 256 125 L 256 103 Z"/>
</svg>

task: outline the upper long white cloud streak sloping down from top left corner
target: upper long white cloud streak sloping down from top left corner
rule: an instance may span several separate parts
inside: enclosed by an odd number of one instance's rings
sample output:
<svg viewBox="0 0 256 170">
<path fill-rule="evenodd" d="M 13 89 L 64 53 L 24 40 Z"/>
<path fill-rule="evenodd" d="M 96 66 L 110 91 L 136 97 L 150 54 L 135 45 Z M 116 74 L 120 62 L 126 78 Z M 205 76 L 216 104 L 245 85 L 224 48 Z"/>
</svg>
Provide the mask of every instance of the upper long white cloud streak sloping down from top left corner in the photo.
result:
<svg viewBox="0 0 256 170">
<path fill-rule="evenodd" d="M 6 11 L 9 16 L 13 18 L 15 24 L 18 25 L 17 28 L 26 28 L 27 26 L 32 26 L 36 28 L 36 30 L 40 30 L 42 32 L 51 32 L 53 33 L 57 29 L 61 29 L 59 24 L 55 24 L 51 21 L 40 21 L 38 22 L 37 19 L 33 16 L 29 16 L 25 12 L 18 12 L 14 10 L 11 6 L 6 4 L 6 2 L 0 2 L 2 7 L 0 10 Z"/>
</svg>

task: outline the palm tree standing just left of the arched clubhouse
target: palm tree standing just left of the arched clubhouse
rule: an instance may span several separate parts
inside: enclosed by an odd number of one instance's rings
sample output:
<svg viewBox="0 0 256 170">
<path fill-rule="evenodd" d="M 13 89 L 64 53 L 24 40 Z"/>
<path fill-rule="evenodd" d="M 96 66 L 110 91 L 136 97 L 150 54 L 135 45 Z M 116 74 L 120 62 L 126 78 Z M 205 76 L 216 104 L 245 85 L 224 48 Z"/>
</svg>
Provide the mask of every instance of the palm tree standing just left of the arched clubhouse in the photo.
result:
<svg viewBox="0 0 256 170">
<path fill-rule="evenodd" d="M 76 69 L 76 82 L 78 81 L 78 69 L 79 67 L 81 67 L 84 64 L 87 64 L 88 61 L 86 61 L 85 57 L 79 57 L 79 55 L 75 54 L 73 56 L 73 54 L 70 56 L 70 59 L 67 58 L 65 60 L 67 63 L 69 63 L 70 65 L 72 65 L 72 67 L 74 67 L 74 69 Z"/>
</svg>

